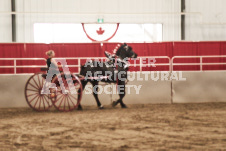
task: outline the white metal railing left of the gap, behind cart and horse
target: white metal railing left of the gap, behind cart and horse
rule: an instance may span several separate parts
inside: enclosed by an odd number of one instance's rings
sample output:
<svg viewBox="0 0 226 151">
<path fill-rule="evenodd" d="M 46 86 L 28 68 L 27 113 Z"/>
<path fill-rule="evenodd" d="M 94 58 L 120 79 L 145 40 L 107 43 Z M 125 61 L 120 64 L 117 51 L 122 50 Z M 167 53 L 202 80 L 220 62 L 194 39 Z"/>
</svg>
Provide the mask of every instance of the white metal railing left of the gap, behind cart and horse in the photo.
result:
<svg viewBox="0 0 226 151">
<path fill-rule="evenodd" d="M 80 72 L 80 67 L 82 65 L 82 60 L 107 60 L 106 57 L 65 57 L 65 58 L 56 58 L 56 59 L 66 59 L 66 60 L 74 60 L 75 64 L 71 65 L 68 64 L 68 67 L 70 68 L 78 68 L 78 72 Z M 146 59 L 153 60 L 153 59 L 167 59 L 167 63 L 154 63 L 153 62 L 147 62 Z M 139 61 L 139 63 L 136 63 L 136 61 Z M 13 65 L 0 65 L 1 68 L 5 69 L 12 69 L 13 68 L 13 74 L 19 74 L 17 73 L 18 68 L 44 68 L 46 65 L 18 65 L 18 61 L 46 61 L 45 58 L 0 58 L 0 61 L 13 61 Z M 142 67 L 152 67 L 152 66 L 168 66 L 169 71 L 171 70 L 171 60 L 168 56 L 141 56 L 138 57 L 136 60 L 134 60 L 135 63 L 130 64 L 130 66 L 133 67 L 139 67 L 139 71 L 142 71 Z M 24 74 L 24 73 L 23 73 Z"/>
</svg>

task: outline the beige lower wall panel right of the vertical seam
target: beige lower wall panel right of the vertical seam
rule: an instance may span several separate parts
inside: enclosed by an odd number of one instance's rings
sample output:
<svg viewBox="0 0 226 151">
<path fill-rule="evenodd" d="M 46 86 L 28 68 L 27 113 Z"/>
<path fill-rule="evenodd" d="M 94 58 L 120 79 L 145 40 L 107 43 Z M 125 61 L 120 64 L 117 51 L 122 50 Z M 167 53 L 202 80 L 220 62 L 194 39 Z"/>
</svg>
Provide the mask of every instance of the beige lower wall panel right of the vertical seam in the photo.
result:
<svg viewBox="0 0 226 151">
<path fill-rule="evenodd" d="M 183 72 L 186 81 L 173 81 L 174 103 L 226 102 L 226 72 Z"/>
</svg>

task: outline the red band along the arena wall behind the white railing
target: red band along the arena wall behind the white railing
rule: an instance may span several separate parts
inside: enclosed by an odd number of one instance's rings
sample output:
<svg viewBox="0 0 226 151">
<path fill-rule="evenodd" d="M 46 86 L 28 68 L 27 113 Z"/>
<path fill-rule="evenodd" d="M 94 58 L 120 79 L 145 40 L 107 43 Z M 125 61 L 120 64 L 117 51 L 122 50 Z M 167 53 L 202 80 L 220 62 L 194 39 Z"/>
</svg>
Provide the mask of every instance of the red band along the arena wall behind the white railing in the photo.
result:
<svg viewBox="0 0 226 151">
<path fill-rule="evenodd" d="M 0 44 L 0 58 L 46 58 L 45 52 L 54 50 L 56 57 L 103 57 L 104 51 L 112 52 L 118 43 L 6 43 Z M 161 43 L 128 43 L 138 56 L 205 56 L 205 55 L 226 55 L 226 42 L 161 42 Z M 165 63 L 164 60 L 157 60 L 158 63 Z M 70 62 L 70 61 L 69 61 Z M 199 59 L 175 59 L 180 63 L 195 63 Z M 205 59 L 204 62 L 226 62 L 226 58 Z M 0 65 L 11 65 L 11 61 L 0 61 Z M 45 65 L 40 61 L 21 61 L 19 65 Z M 73 62 L 70 62 L 73 64 Z M 133 68 L 132 68 L 133 69 Z M 199 70 L 199 66 L 181 66 L 175 67 L 175 70 Z M 226 70 L 225 65 L 204 66 L 205 70 Z M 26 70 L 26 71 L 25 71 Z M 137 70 L 134 68 L 134 70 Z M 168 67 L 158 67 L 158 69 L 144 68 L 144 70 L 168 70 Z M 34 69 L 18 69 L 23 73 L 36 72 Z M 73 69 L 77 71 L 77 69 Z M 12 73 L 12 69 L 0 68 L 0 73 Z"/>
</svg>

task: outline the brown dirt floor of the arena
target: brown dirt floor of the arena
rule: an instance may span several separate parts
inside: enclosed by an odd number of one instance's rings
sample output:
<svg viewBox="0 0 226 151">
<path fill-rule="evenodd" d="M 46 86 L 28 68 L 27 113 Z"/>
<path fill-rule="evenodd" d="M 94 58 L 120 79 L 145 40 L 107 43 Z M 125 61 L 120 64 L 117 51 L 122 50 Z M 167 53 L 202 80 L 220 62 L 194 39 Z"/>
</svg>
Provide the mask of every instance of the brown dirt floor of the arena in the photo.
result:
<svg viewBox="0 0 226 151">
<path fill-rule="evenodd" d="M 226 150 L 226 103 L 0 109 L 0 150 Z"/>
</svg>

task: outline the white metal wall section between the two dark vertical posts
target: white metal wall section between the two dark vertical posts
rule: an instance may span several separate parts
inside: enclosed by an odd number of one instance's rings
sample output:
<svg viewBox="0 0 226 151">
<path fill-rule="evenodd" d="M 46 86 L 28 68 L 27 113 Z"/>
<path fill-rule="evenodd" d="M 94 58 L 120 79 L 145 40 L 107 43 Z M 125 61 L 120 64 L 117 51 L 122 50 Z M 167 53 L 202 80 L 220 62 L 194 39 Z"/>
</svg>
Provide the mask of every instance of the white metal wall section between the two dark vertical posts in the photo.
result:
<svg viewBox="0 0 226 151">
<path fill-rule="evenodd" d="M 18 41 L 33 42 L 33 24 L 96 22 L 104 18 L 107 22 L 120 23 L 163 23 L 163 39 L 180 40 L 180 18 L 172 13 L 180 11 L 180 0 L 17 0 Z M 44 14 L 41 12 L 52 12 Z M 66 14 L 61 14 L 66 13 Z M 67 14 L 73 13 L 73 14 Z M 172 30 L 174 29 L 174 30 Z"/>
</svg>

